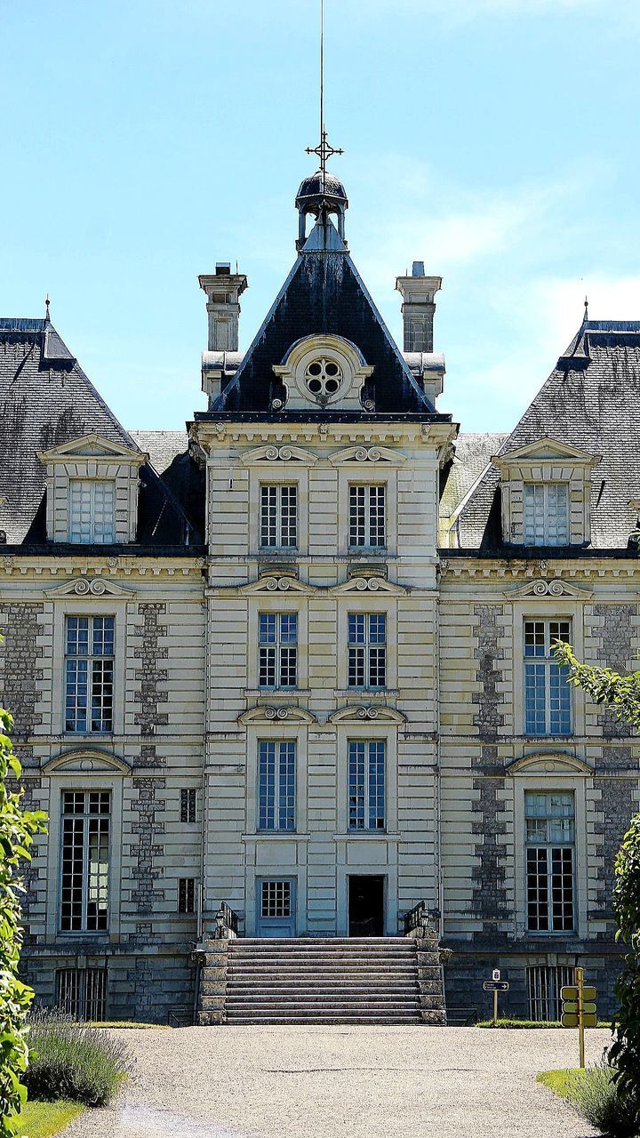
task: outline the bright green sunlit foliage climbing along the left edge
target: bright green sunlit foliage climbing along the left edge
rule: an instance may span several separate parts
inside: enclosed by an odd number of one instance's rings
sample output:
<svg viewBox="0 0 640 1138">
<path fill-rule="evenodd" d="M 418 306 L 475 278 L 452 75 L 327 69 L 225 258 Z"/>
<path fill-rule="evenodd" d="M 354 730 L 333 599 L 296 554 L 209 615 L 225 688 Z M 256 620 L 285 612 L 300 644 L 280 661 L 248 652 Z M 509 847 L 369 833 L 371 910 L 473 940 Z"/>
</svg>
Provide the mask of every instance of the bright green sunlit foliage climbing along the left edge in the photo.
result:
<svg viewBox="0 0 640 1138">
<path fill-rule="evenodd" d="M 20 776 L 8 732 L 13 719 L 0 710 L 0 1138 L 15 1133 L 7 1116 L 19 1111 L 26 1098 L 23 1086 L 27 1065 L 26 1015 L 33 991 L 18 980 L 23 931 L 20 898 L 24 885 L 20 861 L 28 860 L 33 835 L 44 828 L 46 815 L 23 810 L 20 793 L 10 791 L 7 778 Z"/>
</svg>

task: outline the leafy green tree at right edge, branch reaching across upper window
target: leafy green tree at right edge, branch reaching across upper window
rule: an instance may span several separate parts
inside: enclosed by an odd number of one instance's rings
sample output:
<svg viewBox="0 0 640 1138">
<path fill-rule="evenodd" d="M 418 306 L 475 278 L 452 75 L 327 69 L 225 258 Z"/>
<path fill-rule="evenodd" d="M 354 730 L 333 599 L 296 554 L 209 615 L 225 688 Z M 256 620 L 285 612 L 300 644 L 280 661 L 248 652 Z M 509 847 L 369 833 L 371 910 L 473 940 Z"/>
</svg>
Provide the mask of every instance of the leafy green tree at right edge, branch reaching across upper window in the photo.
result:
<svg viewBox="0 0 640 1138">
<path fill-rule="evenodd" d="M 555 654 L 557 662 L 568 669 L 567 683 L 581 687 L 594 703 L 608 704 L 617 719 L 640 728 L 640 671 L 621 676 L 610 668 L 592 668 L 581 663 L 571 645 L 560 641 Z M 613 900 L 616 940 L 622 940 L 629 953 L 615 987 L 620 1006 L 608 1058 L 617 1069 L 629 1114 L 640 1128 L 640 815 L 631 819 L 616 856 Z"/>
</svg>

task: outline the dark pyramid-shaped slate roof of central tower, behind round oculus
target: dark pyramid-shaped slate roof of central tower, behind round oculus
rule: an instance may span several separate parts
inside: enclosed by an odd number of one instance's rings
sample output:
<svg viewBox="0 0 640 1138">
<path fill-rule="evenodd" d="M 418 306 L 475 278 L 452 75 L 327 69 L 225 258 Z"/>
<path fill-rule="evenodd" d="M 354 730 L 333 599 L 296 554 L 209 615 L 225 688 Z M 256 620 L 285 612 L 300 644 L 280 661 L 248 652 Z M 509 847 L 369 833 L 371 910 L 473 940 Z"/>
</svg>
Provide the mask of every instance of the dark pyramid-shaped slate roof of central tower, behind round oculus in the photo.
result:
<svg viewBox="0 0 640 1138">
<path fill-rule="evenodd" d="M 248 352 L 208 412 L 196 419 L 225 419 L 238 414 L 272 415 L 273 398 L 285 389 L 273 374 L 290 347 L 305 336 L 330 332 L 354 344 L 374 372 L 363 398 L 371 399 L 376 415 L 415 414 L 451 421 L 438 415 L 412 374 L 397 345 L 364 287 L 333 222 L 318 222 L 285 281 Z M 352 415 L 353 412 L 350 413 Z M 304 412 L 279 411 L 273 418 L 339 419 L 333 407 Z"/>
</svg>

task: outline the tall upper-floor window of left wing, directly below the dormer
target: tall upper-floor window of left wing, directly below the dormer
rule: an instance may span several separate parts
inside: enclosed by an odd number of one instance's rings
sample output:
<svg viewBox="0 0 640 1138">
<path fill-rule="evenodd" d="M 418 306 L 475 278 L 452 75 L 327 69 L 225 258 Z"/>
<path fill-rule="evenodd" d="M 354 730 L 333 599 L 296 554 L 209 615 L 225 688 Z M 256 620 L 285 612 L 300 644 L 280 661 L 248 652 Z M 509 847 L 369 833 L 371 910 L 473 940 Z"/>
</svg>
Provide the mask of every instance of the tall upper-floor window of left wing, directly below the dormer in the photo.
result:
<svg viewBox="0 0 640 1138">
<path fill-rule="evenodd" d="M 113 731 L 114 618 L 67 617 L 65 731 Z"/>
</svg>

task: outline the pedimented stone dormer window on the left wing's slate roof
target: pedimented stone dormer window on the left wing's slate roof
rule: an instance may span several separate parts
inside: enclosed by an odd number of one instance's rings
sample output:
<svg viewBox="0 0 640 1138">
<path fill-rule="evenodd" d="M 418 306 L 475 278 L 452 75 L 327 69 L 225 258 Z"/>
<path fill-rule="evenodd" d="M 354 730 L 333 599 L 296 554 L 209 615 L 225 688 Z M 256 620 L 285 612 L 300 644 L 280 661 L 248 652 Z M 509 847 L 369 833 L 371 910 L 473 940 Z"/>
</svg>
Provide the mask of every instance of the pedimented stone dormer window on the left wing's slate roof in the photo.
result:
<svg viewBox="0 0 640 1138">
<path fill-rule="evenodd" d="M 149 455 L 83 435 L 38 455 L 47 469 L 47 537 L 77 545 L 134 542 L 140 467 Z"/>
</svg>

